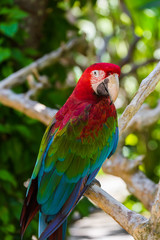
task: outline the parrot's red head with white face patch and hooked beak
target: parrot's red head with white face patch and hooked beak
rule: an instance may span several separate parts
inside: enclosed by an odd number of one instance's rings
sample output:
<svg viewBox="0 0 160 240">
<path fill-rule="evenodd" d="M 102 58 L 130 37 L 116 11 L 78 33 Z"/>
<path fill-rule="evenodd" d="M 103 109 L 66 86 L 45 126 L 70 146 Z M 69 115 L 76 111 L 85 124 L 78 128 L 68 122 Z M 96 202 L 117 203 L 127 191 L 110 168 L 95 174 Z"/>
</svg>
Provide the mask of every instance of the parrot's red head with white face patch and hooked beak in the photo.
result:
<svg viewBox="0 0 160 240">
<path fill-rule="evenodd" d="M 120 67 L 111 63 L 95 63 L 88 67 L 75 88 L 81 99 L 94 100 L 102 96 L 115 102 L 119 91 Z"/>
</svg>

